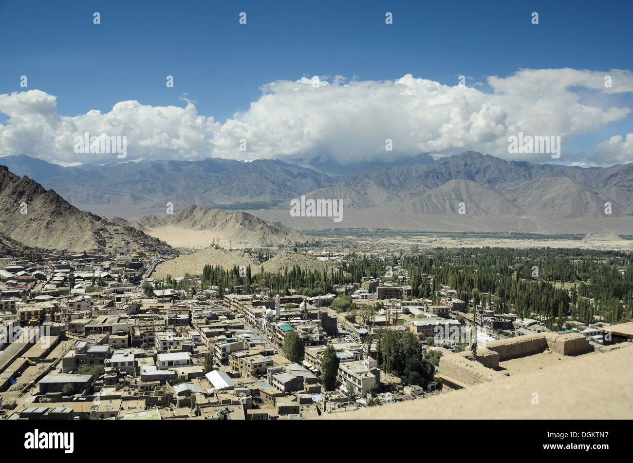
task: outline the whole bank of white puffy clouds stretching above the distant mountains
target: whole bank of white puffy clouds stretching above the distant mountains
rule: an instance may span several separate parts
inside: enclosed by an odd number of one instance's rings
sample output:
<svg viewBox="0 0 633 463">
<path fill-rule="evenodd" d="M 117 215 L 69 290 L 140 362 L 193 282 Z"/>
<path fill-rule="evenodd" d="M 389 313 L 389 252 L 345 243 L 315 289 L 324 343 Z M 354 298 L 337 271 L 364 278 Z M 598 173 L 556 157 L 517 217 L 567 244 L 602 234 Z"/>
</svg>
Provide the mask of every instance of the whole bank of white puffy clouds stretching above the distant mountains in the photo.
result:
<svg viewBox="0 0 633 463">
<path fill-rule="evenodd" d="M 605 86 L 607 75 L 610 87 Z M 329 155 L 345 162 L 472 149 L 548 162 L 549 155 L 508 154 L 508 137 L 523 132 L 560 136 L 568 143 L 622 120 L 630 108 L 614 105 L 613 97 L 633 92 L 633 75 L 627 70 L 527 69 L 509 77 L 491 76 L 487 88 L 457 82 L 447 86 L 410 74 L 384 81 L 340 75 L 278 80 L 261 87 L 261 97 L 224 124 L 199 115 L 186 94 L 180 97 L 187 103 L 184 108 L 122 101 L 107 113 L 93 110 L 66 117 L 57 113 L 55 96 L 38 90 L 13 92 L 0 95 L 0 112 L 9 117 L 0 125 L 0 153 L 66 164 L 114 162 L 112 155 L 74 153 L 75 136 L 89 132 L 127 136 L 125 161 Z M 632 137 L 611 137 L 588 159 L 563 148 L 560 161 L 627 162 L 633 160 Z M 385 151 L 387 139 L 393 151 Z M 242 140 L 246 151 L 240 149 Z"/>
</svg>

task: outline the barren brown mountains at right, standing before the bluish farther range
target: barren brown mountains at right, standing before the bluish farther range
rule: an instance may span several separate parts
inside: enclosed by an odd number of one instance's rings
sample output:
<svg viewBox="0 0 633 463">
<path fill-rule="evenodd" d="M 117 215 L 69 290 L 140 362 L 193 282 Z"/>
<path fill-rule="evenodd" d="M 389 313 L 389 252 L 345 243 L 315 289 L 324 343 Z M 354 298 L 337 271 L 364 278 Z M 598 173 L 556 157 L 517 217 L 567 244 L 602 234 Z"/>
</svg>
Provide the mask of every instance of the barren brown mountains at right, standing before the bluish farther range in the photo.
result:
<svg viewBox="0 0 633 463">
<path fill-rule="evenodd" d="M 580 168 L 510 162 L 473 151 L 432 164 L 376 168 L 311 191 L 306 198 L 340 198 L 347 209 L 391 206 L 407 213 L 555 215 L 565 219 L 633 213 L 633 163 Z M 470 208 L 468 208 L 470 206 Z"/>
</svg>

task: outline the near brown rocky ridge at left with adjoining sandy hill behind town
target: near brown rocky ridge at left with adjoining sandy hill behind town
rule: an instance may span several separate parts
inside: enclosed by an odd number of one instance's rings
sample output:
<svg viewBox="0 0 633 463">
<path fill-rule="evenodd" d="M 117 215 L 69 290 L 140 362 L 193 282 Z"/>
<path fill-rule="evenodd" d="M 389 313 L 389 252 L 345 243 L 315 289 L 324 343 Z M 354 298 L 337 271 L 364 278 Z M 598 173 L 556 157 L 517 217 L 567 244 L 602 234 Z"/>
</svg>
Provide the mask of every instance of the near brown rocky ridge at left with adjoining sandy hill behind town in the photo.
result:
<svg viewBox="0 0 633 463">
<path fill-rule="evenodd" d="M 189 242 L 182 243 L 187 234 L 193 234 L 194 241 L 198 239 L 197 244 L 204 246 L 209 246 L 212 239 L 218 239 L 218 244 L 220 239 L 222 244 L 233 242 L 235 247 L 308 241 L 304 234 L 247 212 L 196 205 L 162 216 L 144 216 L 132 223 L 121 217 L 108 220 L 79 210 L 53 189 L 46 190 L 27 176 L 18 177 L 4 165 L 0 165 L 0 208 L 1 255 L 27 247 L 110 253 L 142 248 L 168 254 L 175 252 L 170 244 L 188 247 Z M 196 232 L 203 236 L 196 236 Z M 169 239 L 161 241 L 154 235 Z"/>
</svg>

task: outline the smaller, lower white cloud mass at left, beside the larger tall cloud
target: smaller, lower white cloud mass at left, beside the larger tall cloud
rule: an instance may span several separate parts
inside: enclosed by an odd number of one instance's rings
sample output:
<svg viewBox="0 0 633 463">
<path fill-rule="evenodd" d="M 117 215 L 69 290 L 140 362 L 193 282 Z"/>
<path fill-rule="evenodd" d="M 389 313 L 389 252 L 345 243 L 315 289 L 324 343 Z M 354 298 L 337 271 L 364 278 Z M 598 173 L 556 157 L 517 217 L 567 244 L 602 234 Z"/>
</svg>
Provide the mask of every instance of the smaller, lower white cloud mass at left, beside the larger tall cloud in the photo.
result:
<svg viewBox="0 0 633 463">
<path fill-rule="evenodd" d="M 206 137 L 219 125 L 213 117 L 197 114 L 196 106 L 149 106 L 138 101 L 121 101 L 108 113 L 91 110 L 75 117 L 57 113 L 56 97 L 39 90 L 0 95 L 0 112 L 9 116 L 0 125 L 0 152 L 25 154 L 47 161 L 109 163 L 110 153 L 75 153 L 75 137 L 125 136 L 127 158 L 196 159 L 210 148 Z M 206 153 L 208 155 L 208 153 Z"/>
</svg>

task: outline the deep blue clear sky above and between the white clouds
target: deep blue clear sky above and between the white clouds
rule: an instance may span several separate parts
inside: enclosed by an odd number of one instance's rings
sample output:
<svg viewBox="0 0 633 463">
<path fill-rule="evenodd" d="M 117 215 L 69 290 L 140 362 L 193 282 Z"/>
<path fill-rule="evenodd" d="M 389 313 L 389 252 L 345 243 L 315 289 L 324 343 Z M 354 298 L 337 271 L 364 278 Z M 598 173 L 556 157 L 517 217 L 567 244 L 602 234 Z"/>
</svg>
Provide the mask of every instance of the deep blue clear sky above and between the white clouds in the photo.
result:
<svg viewBox="0 0 633 463">
<path fill-rule="evenodd" d="M 620 1 L 0 1 L 0 94 L 24 91 L 20 76 L 27 75 L 28 90 L 56 96 L 58 115 L 72 117 L 127 100 L 184 107 L 186 93 L 199 115 L 224 123 L 247 111 L 264 84 L 313 75 L 411 74 L 448 86 L 466 75 L 470 86 L 523 68 L 630 70 L 632 17 L 633 3 Z M 633 107 L 630 92 L 606 101 Z M 591 151 L 626 136 L 631 121 L 578 134 L 568 146 Z"/>
</svg>

